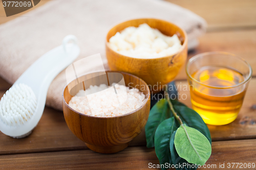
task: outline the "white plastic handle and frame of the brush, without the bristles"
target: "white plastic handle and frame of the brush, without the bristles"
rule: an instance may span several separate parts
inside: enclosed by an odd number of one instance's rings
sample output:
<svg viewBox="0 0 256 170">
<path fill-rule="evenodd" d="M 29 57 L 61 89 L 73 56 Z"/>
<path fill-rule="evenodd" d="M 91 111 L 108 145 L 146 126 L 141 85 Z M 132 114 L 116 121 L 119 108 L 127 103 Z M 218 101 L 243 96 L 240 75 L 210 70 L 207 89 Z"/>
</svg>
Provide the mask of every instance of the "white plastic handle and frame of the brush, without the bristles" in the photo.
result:
<svg viewBox="0 0 256 170">
<path fill-rule="evenodd" d="M 68 43 L 69 41 L 72 43 Z M 31 87 L 36 95 L 37 105 L 31 118 L 23 125 L 8 126 L 1 122 L 0 130 L 4 134 L 17 138 L 29 134 L 36 127 L 44 112 L 51 82 L 78 57 L 79 53 L 77 38 L 68 35 L 63 39 L 62 45 L 41 56 L 18 78 L 14 85 L 24 83 Z"/>
</svg>

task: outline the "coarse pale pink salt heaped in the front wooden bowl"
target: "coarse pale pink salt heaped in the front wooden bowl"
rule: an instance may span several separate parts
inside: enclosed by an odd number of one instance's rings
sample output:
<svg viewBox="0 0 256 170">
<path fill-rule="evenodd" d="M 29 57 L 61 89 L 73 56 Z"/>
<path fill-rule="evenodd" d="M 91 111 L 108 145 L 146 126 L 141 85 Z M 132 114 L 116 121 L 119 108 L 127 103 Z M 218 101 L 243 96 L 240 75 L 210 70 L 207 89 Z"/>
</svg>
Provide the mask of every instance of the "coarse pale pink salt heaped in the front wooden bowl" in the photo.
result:
<svg viewBox="0 0 256 170">
<path fill-rule="evenodd" d="M 90 88 L 79 90 L 69 102 L 69 106 L 77 112 L 99 117 L 118 116 L 130 113 L 140 108 L 146 98 L 143 92 L 137 88 L 129 88 L 115 84 L 108 87 L 105 84 L 90 86 Z"/>
</svg>

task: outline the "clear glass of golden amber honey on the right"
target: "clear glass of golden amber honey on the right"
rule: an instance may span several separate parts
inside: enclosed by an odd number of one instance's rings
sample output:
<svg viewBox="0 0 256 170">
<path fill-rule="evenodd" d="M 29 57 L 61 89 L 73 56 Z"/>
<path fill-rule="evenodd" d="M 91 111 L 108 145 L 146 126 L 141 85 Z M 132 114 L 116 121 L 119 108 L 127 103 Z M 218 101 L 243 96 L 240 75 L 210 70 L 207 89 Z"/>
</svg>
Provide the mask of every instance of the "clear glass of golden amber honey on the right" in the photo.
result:
<svg viewBox="0 0 256 170">
<path fill-rule="evenodd" d="M 191 103 L 206 124 L 226 125 L 238 116 L 252 76 L 243 58 L 225 52 L 202 53 L 186 65 Z"/>
</svg>

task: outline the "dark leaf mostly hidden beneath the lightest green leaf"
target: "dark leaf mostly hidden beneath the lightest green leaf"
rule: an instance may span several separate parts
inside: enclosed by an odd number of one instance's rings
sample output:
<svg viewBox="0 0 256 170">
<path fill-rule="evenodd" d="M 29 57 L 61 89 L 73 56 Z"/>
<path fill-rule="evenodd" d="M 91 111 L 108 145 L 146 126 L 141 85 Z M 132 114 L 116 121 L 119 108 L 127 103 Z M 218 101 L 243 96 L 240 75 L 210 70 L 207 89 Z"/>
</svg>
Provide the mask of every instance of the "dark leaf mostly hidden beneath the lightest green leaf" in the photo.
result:
<svg viewBox="0 0 256 170">
<path fill-rule="evenodd" d="M 192 168 L 193 166 L 191 166 L 192 165 L 191 163 L 188 163 L 185 159 L 181 158 L 178 155 L 178 153 L 175 149 L 175 146 L 174 146 L 174 136 L 175 136 L 176 132 L 177 131 L 174 131 L 174 133 L 170 137 L 170 156 L 172 158 L 173 164 L 177 165 L 176 170 L 196 170 L 197 166 Z M 187 166 L 181 166 L 180 167 L 179 165 L 183 165 L 183 163 L 190 164 L 190 167 L 187 167 Z"/>
</svg>

